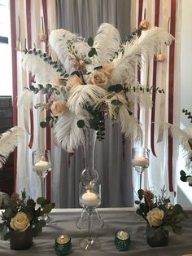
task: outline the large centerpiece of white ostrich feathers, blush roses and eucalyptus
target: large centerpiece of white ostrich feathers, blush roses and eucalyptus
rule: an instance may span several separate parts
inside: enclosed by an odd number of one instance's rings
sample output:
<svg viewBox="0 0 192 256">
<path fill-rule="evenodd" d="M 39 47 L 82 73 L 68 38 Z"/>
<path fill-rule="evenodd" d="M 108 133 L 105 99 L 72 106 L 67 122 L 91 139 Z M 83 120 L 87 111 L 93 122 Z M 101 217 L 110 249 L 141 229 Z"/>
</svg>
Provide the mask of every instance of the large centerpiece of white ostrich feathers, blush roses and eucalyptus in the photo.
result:
<svg viewBox="0 0 192 256">
<path fill-rule="evenodd" d="M 84 128 L 97 130 L 97 138 L 104 139 L 105 116 L 119 121 L 125 136 L 142 140 L 142 128 L 133 117 L 133 104 L 151 107 L 152 92 L 137 82 L 135 68 L 144 66 L 158 54 L 162 44 L 172 42 L 170 33 L 161 28 L 134 31 L 129 40 L 121 42 L 119 31 L 103 23 L 95 38 L 85 38 L 65 29 L 50 33 L 50 46 L 58 59 L 36 48 L 24 49 L 24 68 L 33 73 L 32 86 L 24 90 L 18 106 L 33 105 L 33 93 L 39 104 L 35 108 L 50 113 L 41 127 L 54 127 L 58 143 L 73 152 L 84 141 Z M 42 96 L 44 102 L 41 102 Z M 39 97 L 38 97 L 39 96 Z"/>
</svg>

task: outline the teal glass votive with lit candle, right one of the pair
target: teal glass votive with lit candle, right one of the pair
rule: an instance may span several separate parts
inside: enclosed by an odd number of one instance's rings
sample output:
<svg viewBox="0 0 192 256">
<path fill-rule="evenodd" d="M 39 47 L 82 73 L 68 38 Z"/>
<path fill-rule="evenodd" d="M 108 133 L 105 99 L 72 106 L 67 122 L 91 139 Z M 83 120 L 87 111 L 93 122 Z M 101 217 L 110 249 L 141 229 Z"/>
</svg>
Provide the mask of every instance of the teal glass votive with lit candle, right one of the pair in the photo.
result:
<svg viewBox="0 0 192 256">
<path fill-rule="evenodd" d="M 116 232 L 115 245 L 116 245 L 116 249 L 128 250 L 129 245 L 130 245 L 129 232 L 126 232 L 124 230 L 120 230 L 120 231 Z"/>
</svg>

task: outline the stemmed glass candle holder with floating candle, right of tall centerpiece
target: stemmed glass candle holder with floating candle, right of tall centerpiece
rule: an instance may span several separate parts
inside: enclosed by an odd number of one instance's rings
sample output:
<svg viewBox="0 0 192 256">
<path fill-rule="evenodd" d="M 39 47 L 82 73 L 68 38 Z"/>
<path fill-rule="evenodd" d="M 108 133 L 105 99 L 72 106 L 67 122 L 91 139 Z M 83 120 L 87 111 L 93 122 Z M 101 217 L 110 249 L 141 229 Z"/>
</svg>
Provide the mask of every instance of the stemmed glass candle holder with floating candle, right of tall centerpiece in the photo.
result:
<svg viewBox="0 0 192 256">
<path fill-rule="evenodd" d="M 142 173 L 149 167 L 150 150 L 147 148 L 132 149 L 132 166 L 139 174 L 139 189 L 142 189 Z"/>
</svg>

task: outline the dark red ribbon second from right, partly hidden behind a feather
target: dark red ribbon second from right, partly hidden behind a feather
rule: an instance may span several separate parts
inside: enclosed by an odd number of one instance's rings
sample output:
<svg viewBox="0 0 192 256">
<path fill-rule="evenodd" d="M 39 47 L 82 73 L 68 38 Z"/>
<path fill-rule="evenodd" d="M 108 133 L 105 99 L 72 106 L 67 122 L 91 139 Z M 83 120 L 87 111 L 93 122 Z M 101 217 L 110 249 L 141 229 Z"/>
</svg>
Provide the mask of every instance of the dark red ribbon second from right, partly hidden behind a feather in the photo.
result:
<svg viewBox="0 0 192 256">
<path fill-rule="evenodd" d="M 160 2 L 159 0 L 155 0 L 155 26 L 159 26 L 159 6 Z M 154 89 L 156 89 L 156 76 L 157 76 L 157 63 L 154 60 L 153 62 L 153 86 Z M 153 102 L 153 107 L 151 109 L 151 152 L 153 155 L 156 157 L 155 154 L 155 101 L 156 101 L 156 96 L 155 96 L 155 91 L 152 93 L 152 102 Z"/>
</svg>

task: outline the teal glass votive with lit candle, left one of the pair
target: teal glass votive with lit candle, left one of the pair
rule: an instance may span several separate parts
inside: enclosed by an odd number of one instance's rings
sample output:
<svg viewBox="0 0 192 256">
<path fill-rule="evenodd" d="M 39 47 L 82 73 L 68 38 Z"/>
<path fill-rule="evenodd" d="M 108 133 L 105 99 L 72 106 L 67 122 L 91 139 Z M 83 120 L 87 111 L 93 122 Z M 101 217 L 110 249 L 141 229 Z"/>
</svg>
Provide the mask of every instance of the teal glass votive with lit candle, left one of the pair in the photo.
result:
<svg viewBox="0 0 192 256">
<path fill-rule="evenodd" d="M 68 235 L 61 235 L 55 239 L 55 253 L 59 256 L 70 253 L 72 249 L 71 237 Z"/>
</svg>

